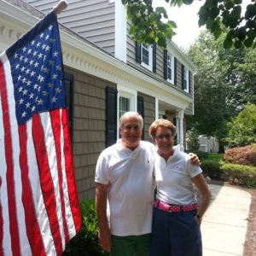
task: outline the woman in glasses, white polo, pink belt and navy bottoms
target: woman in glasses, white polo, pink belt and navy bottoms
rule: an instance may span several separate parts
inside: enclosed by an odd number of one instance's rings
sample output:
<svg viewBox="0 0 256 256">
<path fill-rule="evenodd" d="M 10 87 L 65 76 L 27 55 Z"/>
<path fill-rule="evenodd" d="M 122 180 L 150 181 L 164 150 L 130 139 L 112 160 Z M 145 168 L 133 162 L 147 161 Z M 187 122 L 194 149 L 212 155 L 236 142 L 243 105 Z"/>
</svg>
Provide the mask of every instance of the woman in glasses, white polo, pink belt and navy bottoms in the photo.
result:
<svg viewBox="0 0 256 256">
<path fill-rule="evenodd" d="M 176 127 L 157 119 L 149 127 L 157 146 L 155 154 L 156 195 L 151 256 L 201 256 L 200 224 L 211 201 L 211 193 L 200 166 L 189 163 L 189 155 L 173 147 Z M 198 202 L 195 186 L 201 192 Z"/>
</svg>

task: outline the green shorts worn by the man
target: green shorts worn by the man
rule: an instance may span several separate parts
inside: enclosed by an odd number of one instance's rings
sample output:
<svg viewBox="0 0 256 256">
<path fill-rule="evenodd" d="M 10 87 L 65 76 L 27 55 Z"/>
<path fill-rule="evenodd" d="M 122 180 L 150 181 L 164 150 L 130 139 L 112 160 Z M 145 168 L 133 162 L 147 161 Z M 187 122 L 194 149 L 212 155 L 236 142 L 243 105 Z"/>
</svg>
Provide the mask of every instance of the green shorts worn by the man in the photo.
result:
<svg viewBox="0 0 256 256">
<path fill-rule="evenodd" d="M 148 256 L 150 236 L 112 236 L 110 256 Z"/>
</svg>

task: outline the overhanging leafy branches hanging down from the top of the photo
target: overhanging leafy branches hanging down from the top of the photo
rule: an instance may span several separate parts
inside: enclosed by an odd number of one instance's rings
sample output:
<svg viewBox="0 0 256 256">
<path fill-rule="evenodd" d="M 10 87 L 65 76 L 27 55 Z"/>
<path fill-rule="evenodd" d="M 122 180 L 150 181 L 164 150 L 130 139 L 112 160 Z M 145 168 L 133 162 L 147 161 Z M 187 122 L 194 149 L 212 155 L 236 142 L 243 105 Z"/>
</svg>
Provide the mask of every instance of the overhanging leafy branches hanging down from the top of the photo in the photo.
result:
<svg viewBox="0 0 256 256">
<path fill-rule="evenodd" d="M 194 0 L 166 0 L 170 6 L 191 4 Z M 122 0 L 127 6 L 127 17 L 131 20 L 130 33 L 138 43 L 159 44 L 166 48 L 166 39 L 172 39 L 177 27 L 173 20 L 168 20 L 166 9 L 153 9 L 152 0 Z M 224 48 L 234 45 L 256 47 L 256 1 L 247 5 L 241 14 L 241 0 L 206 0 L 199 10 L 199 26 L 207 26 L 217 39 L 227 30 Z M 166 19 L 165 23 L 162 18 Z M 189 21 L 188 21 L 189 22 Z"/>
</svg>

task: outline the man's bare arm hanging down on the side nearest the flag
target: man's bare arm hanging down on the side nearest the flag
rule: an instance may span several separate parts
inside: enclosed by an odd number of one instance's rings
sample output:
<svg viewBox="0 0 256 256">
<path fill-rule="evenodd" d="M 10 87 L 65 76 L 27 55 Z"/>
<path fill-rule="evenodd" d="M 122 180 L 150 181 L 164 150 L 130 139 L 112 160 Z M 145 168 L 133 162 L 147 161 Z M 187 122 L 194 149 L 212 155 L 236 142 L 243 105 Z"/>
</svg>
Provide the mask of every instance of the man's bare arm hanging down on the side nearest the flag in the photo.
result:
<svg viewBox="0 0 256 256">
<path fill-rule="evenodd" d="M 108 185 L 96 183 L 96 215 L 98 218 L 98 242 L 103 250 L 110 251 L 111 234 L 107 218 Z"/>
</svg>

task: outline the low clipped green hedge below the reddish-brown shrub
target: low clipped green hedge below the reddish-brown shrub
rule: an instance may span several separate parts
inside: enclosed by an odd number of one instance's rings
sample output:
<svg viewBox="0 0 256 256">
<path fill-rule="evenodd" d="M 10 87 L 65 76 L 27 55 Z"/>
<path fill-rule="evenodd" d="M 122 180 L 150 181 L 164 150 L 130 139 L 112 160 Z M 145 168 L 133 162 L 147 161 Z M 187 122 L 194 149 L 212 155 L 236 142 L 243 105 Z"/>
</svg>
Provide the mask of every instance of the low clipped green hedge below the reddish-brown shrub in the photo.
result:
<svg viewBox="0 0 256 256">
<path fill-rule="evenodd" d="M 256 167 L 224 163 L 220 169 L 226 181 L 235 185 L 256 188 Z"/>
</svg>

